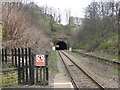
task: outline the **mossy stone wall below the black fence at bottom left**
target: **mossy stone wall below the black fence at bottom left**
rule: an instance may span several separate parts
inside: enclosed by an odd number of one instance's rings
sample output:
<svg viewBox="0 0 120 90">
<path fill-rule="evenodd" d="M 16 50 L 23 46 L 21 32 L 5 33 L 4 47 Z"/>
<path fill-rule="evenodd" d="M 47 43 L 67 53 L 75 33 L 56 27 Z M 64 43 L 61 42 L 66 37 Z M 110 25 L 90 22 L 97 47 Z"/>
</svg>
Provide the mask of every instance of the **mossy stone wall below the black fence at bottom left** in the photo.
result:
<svg viewBox="0 0 120 90">
<path fill-rule="evenodd" d="M 2 71 L 0 71 L 0 87 L 16 86 L 17 84 L 17 69 L 3 69 Z"/>
</svg>

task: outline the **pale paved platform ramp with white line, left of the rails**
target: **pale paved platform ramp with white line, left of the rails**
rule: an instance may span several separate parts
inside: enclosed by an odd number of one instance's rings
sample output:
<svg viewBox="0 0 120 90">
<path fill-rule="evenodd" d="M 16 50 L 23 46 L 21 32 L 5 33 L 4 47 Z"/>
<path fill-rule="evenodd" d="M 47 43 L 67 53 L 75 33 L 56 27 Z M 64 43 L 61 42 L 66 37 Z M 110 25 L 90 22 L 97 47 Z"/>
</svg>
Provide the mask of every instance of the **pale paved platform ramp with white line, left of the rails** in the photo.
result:
<svg viewBox="0 0 120 90">
<path fill-rule="evenodd" d="M 58 59 L 58 70 L 60 73 L 56 74 L 54 78 L 54 88 L 74 90 L 64 64 L 60 58 Z"/>
</svg>

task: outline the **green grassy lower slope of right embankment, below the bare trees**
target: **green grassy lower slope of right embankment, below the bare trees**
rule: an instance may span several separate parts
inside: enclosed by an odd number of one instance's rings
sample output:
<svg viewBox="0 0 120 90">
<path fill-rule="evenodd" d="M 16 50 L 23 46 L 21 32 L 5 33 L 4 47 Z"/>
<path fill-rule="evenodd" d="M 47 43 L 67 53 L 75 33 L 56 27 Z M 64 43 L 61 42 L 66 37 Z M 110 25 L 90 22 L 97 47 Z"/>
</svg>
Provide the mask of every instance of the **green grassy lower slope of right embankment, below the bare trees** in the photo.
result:
<svg viewBox="0 0 120 90">
<path fill-rule="evenodd" d="M 110 32 L 109 32 L 110 33 Z M 98 43 L 96 45 L 96 43 Z M 82 50 L 79 50 L 81 52 L 85 52 L 91 55 L 103 57 L 105 59 L 111 59 L 118 61 L 118 33 L 111 32 L 110 34 L 107 34 L 106 37 L 100 37 L 100 36 L 93 36 L 85 41 L 81 41 L 78 44 L 78 48 L 84 48 Z M 93 50 L 91 50 L 93 49 Z"/>
</svg>

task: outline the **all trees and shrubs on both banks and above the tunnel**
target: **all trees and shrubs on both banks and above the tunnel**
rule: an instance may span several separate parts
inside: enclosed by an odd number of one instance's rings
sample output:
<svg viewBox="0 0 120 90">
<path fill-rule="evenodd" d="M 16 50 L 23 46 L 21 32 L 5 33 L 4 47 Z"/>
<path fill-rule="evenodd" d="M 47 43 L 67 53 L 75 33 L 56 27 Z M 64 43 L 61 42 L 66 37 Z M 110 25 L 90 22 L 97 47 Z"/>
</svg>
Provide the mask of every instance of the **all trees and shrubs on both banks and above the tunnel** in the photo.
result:
<svg viewBox="0 0 120 90">
<path fill-rule="evenodd" d="M 79 22 L 70 10 L 65 12 L 67 25 L 61 24 L 61 13 L 35 3 L 3 3 L 3 46 L 31 47 L 34 52 L 50 47 L 60 37 L 70 37 L 70 46 L 88 52 L 118 54 L 118 2 L 92 2 Z M 78 20 L 78 21 L 77 21 Z M 77 24 L 78 23 L 78 24 Z"/>
</svg>

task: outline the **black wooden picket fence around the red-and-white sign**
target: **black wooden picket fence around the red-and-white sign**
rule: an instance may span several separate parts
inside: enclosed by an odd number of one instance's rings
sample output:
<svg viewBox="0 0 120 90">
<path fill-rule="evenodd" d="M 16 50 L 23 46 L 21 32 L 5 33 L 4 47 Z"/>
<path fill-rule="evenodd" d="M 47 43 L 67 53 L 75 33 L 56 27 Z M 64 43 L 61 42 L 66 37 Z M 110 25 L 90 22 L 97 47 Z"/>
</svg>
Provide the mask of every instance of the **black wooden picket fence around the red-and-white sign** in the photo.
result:
<svg viewBox="0 0 120 90">
<path fill-rule="evenodd" d="M 2 49 L 2 66 L 11 65 L 18 69 L 19 84 L 48 83 L 48 54 L 45 55 L 46 65 L 35 66 L 35 55 L 31 48 Z"/>
</svg>

